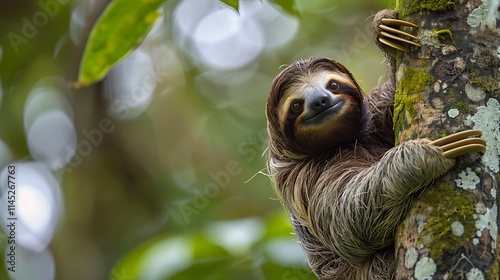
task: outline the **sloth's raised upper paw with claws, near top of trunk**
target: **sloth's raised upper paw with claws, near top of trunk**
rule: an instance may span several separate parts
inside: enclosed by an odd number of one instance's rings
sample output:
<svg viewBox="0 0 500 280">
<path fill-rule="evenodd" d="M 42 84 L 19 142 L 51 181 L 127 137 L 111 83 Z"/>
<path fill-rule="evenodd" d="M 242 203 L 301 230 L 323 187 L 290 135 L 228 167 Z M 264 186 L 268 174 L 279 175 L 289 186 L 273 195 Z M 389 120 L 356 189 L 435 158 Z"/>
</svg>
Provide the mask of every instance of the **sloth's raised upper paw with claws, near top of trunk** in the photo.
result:
<svg viewBox="0 0 500 280">
<path fill-rule="evenodd" d="M 418 28 L 418 25 L 399 20 L 397 17 L 398 14 L 394 10 L 382 10 L 375 15 L 372 24 L 377 44 L 392 55 L 396 50 L 409 52 L 411 46 L 420 47 L 419 38 L 399 29 L 401 26 Z"/>
</svg>

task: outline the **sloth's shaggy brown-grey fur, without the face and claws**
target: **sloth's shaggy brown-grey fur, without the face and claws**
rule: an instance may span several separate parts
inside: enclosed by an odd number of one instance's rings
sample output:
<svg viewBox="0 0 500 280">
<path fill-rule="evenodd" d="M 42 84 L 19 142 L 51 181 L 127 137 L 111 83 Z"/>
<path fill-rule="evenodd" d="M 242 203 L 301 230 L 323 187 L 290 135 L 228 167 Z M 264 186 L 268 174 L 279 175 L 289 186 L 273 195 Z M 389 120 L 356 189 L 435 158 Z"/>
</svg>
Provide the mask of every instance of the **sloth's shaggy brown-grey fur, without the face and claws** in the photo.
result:
<svg viewBox="0 0 500 280">
<path fill-rule="evenodd" d="M 394 146 L 394 70 L 389 69 L 389 80 L 369 95 L 343 65 L 328 58 L 297 61 L 272 84 L 266 105 L 268 170 L 320 279 L 392 279 L 395 229 L 413 194 L 453 165 L 426 139 Z M 357 106 L 360 123 L 335 130 L 331 141 L 312 149 L 296 141 L 300 120 L 287 133 L 280 106 L 284 96 L 297 94 L 291 91 L 301 88 L 297 84 L 304 83 L 303 77 L 324 73 L 342 75 L 355 85 L 345 98 Z M 354 138 L 336 140 L 346 133 Z"/>
</svg>

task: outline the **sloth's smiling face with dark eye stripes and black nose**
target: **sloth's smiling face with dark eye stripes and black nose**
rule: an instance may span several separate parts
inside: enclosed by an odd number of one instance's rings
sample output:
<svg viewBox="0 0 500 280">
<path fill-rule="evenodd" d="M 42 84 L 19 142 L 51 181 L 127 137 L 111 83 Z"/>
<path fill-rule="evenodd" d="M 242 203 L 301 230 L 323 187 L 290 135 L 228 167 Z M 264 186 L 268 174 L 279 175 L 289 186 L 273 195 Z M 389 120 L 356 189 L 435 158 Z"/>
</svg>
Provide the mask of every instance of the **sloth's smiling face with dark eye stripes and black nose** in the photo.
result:
<svg viewBox="0 0 500 280">
<path fill-rule="evenodd" d="M 362 93 L 350 77 L 319 69 L 294 78 L 279 103 L 284 135 L 311 152 L 353 141 L 361 121 Z"/>
</svg>

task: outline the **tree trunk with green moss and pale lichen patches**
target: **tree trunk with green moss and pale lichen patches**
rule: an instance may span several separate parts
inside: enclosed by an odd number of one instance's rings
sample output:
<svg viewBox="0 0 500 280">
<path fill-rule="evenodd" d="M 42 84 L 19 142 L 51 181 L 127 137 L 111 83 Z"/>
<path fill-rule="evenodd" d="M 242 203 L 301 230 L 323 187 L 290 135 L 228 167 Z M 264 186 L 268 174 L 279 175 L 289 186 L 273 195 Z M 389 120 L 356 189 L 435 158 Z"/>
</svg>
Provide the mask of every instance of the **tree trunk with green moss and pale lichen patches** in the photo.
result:
<svg viewBox="0 0 500 280">
<path fill-rule="evenodd" d="M 459 157 L 398 228 L 396 279 L 499 279 L 500 24 L 497 0 L 399 0 L 422 47 L 398 57 L 398 142 L 479 129 L 484 155 Z"/>
</svg>

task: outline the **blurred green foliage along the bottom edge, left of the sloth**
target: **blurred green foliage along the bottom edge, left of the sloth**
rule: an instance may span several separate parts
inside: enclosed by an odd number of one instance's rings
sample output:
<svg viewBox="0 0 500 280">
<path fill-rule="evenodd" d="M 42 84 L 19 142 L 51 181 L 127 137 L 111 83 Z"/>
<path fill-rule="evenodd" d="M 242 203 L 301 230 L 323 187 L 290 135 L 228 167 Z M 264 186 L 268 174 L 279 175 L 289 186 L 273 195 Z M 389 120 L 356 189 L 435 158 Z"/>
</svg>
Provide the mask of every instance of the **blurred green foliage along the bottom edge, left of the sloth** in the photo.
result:
<svg viewBox="0 0 500 280">
<path fill-rule="evenodd" d="M 257 225 L 260 222 L 258 220 Z M 207 238 L 206 230 L 205 234 L 195 231 L 159 237 L 124 256 L 113 269 L 111 279 L 120 279 L 123 274 L 139 279 L 196 279 L 200 271 L 203 279 L 248 279 L 248 276 L 252 279 L 316 279 L 305 260 L 298 263 L 277 260 L 277 256 L 286 259 L 284 254 L 290 253 L 286 243 L 298 249 L 290 238 L 283 238 L 292 231 L 290 221 L 280 212 L 264 222 L 265 232 L 257 234 L 258 238 L 242 248 L 238 248 L 242 245 L 238 242 L 230 246 L 221 242 L 232 239 L 223 229 L 220 233 L 224 232 L 224 236 L 215 239 Z M 238 221 L 225 223 L 234 227 L 239 224 Z M 291 276 L 300 278 L 289 278 Z"/>
</svg>

